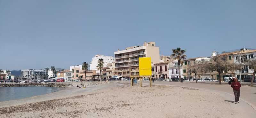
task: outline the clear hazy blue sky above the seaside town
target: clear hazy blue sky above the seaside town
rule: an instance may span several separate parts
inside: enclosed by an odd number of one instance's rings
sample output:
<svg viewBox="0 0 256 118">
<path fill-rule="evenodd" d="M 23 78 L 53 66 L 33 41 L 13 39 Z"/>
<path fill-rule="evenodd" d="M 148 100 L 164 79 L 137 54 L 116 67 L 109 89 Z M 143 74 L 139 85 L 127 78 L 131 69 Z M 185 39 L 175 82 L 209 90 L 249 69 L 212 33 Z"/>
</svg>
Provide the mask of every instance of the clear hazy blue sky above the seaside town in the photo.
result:
<svg viewBox="0 0 256 118">
<path fill-rule="evenodd" d="M 256 48 L 255 0 L 0 0 L 0 69 L 43 69 L 156 42 L 186 49 Z"/>
</svg>

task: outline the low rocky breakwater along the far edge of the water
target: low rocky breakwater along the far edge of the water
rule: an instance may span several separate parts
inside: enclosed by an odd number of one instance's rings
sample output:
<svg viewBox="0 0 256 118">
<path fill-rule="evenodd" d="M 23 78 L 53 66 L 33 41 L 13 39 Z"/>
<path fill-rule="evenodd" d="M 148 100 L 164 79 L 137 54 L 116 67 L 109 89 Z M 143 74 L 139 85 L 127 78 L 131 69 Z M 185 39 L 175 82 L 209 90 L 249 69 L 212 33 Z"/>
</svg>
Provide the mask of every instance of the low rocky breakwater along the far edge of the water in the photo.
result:
<svg viewBox="0 0 256 118">
<path fill-rule="evenodd" d="M 0 87 L 19 87 L 19 86 L 48 86 L 48 87 L 70 87 L 71 83 L 0 83 Z"/>
</svg>

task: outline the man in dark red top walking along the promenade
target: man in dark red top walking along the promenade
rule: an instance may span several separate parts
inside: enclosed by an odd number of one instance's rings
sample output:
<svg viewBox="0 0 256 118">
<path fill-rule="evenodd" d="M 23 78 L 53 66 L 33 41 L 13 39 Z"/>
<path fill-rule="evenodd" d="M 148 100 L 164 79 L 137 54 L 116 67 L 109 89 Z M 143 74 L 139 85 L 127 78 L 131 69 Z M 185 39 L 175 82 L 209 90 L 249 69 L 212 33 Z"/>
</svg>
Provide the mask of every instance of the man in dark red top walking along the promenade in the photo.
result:
<svg viewBox="0 0 256 118">
<path fill-rule="evenodd" d="M 237 78 L 234 78 L 234 82 L 231 83 L 231 87 L 233 88 L 233 92 L 235 95 L 235 102 L 237 104 L 239 103 L 240 87 L 241 87 L 241 84 L 238 82 Z"/>
</svg>

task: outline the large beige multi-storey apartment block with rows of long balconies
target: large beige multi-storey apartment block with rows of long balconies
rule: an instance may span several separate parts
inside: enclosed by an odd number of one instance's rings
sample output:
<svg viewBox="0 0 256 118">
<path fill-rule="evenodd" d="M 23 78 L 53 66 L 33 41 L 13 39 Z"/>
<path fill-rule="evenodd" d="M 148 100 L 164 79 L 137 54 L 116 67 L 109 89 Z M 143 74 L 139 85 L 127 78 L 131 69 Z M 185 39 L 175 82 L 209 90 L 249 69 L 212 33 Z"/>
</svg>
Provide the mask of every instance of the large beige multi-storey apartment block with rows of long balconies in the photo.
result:
<svg viewBox="0 0 256 118">
<path fill-rule="evenodd" d="M 159 47 L 155 42 L 144 42 L 143 46 L 127 47 L 125 50 L 119 49 L 115 54 L 115 69 L 113 75 L 130 78 L 130 67 L 139 67 L 140 57 L 151 57 L 151 63 L 159 62 Z"/>
</svg>

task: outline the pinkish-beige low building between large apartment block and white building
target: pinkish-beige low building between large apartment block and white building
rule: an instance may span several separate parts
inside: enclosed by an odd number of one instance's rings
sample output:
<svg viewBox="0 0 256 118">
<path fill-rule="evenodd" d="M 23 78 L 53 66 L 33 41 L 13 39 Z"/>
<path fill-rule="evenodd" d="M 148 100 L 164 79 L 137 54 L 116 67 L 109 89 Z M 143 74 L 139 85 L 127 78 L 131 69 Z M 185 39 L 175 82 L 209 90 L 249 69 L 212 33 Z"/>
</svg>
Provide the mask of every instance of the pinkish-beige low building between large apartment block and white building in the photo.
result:
<svg viewBox="0 0 256 118">
<path fill-rule="evenodd" d="M 164 61 L 164 62 L 159 62 L 155 63 L 155 78 L 169 78 L 169 63 L 172 61 Z"/>
</svg>

